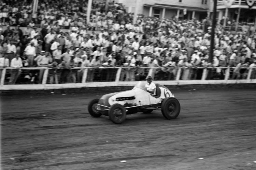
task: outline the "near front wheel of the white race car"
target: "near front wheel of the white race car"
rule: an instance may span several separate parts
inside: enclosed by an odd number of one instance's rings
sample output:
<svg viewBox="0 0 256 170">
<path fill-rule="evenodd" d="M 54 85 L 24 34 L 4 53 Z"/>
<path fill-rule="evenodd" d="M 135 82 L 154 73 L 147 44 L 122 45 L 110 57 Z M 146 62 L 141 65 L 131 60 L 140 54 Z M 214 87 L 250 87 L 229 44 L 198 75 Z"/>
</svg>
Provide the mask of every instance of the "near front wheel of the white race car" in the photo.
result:
<svg viewBox="0 0 256 170">
<path fill-rule="evenodd" d="M 126 111 L 123 105 L 113 104 L 109 108 L 109 118 L 113 123 L 123 123 L 126 118 Z"/>
</svg>

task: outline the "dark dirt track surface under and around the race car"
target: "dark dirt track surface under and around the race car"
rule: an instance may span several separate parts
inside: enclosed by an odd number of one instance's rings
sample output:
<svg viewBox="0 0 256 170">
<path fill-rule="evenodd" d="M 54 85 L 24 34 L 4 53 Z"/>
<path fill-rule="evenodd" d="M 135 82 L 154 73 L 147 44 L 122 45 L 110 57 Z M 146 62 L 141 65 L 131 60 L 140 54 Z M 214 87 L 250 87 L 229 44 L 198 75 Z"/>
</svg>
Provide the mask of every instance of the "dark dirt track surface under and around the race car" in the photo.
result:
<svg viewBox="0 0 256 170">
<path fill-rule="evenodd" d="M 2 169 L 256 169 L 256 89 L 172 92 L 177 119 L 153 111 L 123 124 L 88 114 L 104 93 L 2 96 Z"/>
</svg>

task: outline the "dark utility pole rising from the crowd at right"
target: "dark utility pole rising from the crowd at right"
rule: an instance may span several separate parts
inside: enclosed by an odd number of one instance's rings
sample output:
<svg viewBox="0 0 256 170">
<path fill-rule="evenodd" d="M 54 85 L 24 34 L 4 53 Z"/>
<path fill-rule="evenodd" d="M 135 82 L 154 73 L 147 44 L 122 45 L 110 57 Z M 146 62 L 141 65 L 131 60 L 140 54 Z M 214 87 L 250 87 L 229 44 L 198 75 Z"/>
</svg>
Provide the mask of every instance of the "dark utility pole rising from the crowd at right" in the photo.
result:
<svg viewBox="0 0 256 170">
<path fill-rule="evenodd" d="M 212 63 L 213 60 L 213 49 L 214 49 L 214 36 L 215 36 L 215 26 L 216 26 L 216 9 L 217 9 L 217 0 L 213 2 L 213 16 L 212 16 L 212 30 L 211 30 L 211 46 L 210 46 L 210 56 L 209 62 Z"/>
</svg>

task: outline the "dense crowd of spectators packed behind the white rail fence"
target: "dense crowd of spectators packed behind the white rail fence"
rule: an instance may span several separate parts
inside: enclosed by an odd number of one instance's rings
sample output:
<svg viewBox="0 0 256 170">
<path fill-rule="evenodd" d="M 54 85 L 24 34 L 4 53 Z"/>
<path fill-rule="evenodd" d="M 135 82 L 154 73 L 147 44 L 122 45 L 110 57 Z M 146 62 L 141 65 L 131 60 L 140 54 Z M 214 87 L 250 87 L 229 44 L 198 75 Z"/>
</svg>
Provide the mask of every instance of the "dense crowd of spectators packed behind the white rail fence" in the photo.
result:
<svg viewBox="0 0 256 170">
<path fill-rule="evenodd" d="M 155 80 L 175 80 L 180 67 L 181 80 L 200 80 L 201 67 L 210 68 L 207 79 L 222 79 L 226 69 L 214 67 L 227 66 L 233 67 L 230 79 L 245 79 L 248 68 L 256 66 L 254 32 L 232 33 L 222 26 L 216 27 L 214 57 L 209 61 L 209 18 L 139 15 L 133 23 L 133 15 L 122 4 L 111 2 L 105 11 L 100 2 L 93 4 L 90 24 L 85 24 L 87 9 L 81 4 L 86 0 L 40 1 L 37 17 L 31 16 L 29 0 L 13 2 L 2 2 L 1 22 L 7 23 L 7 29 L 0 28 L 0 67 L 16 68 L 10 72 L 10 84 L 20 77 L 22 67 L 53 68 L 49 69 L 49 83 L 75 83 L 82 81 L 84 72 L 76 67 L 98 68 L 88 69 L 86 81 L 91 82 L 115 80 L 119 67 L 124 67 L 120 81 L 135 81 L 145 78 L 145 67 L 154 67 Z M 22 17 L 17 17 L 19 13 Z M 8 16 L 13 18 L 8 21 Z M 31 20 L 21 20 L 23 17 Z M 21 25 L 26 28 L 21 30 Z M 42 29 L 38 31 L 37 26 Z M 30 83 L 41 83 L 43 72 L 29 71 L 24 77 Z M 251 78 L 255 79 L 255 70 Z"/>
</svg>

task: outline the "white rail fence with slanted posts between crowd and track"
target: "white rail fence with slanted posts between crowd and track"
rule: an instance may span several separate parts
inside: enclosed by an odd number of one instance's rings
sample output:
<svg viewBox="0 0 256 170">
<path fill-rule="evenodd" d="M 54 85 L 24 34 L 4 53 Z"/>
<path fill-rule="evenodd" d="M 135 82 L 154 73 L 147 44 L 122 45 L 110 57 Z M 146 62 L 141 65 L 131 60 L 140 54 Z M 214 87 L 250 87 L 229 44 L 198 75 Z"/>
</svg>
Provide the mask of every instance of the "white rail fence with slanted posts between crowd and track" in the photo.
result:
<svg viewBox="0 0 256 170">
<path fill-rule="evenodd" d="M 163 67 L 140 67 L 139 69 L 146 69 L 146 75 L 156 75 L 156 70 L 160 70 Z M 171 68 L 176 69 L 176 73 L 173 74 L 173 80 L 161 80 L 161 77 L 154 80 L 155 83 L 160 83 L 163 85 L 195 85 L 195 84 L 237 84 L 237 83 L 256 83 L 256 67 L 252 68 L 244 68 L 241 67 L 239 69 L 246 69 L 245 73 L 243 73 L 243 79 L 235 79 L 231 80 L 230 72 L 235 67 L 191 67 L 191 68 Z M 79 67 L 79 68 L 72 68 L 72 69 L 79 69 L 83 70 L 81 83 L 59 83 L 59 84 L 47 84 L 47 80 L 49 79 L 49 70 L 51 68 L 48 67 L 35 67 L 35 68 L 22 68 L 22 71 L 25 70 L 44 70 L 42 80 L 40 81 L 41 84 L 8 84 L 6 82 L 6 74 L 8 70 L 15 69 L 12 67 L 7 68 L 0 68 L 1 69 L 1 79 L 0 79 L 0 90 L 46 90 L 46 89 L 64 89 L 64 88 L 83 88 L 83 87 L 112 87 L 112 86 L 133 86 L 136 84 L 136 81 L 124 81 L 120 80 L 124 72 L 127 73 L 129 69 L 136 69 L 133 67 L 100 67 L 100 68 L 93 68 L 93 67 Z M 94 74 L 94 71 L 98 69 L 101 72 L 105 73 L 105 69 L 116 69 L 114 75 L 112 75 L 113 81 L 97 81 L 97 82 L 88 82 L 88 77 L 91 74 Z M 200 80 L 182 80 L 183 75 L 185 74 L 184 70 L 189 69 L 190 71 L 195 69 L 203 69 L 202 74 L 200 76 Z M 208 80 L 207 77 L 209 76 L 209 71 L 214 72 L 216 69 L 223 69 L 222 79 L 218 80 Z M 110 71 L 110 70 L 108 70 Z M 75 73 L 76 74 L 76 73 Z M 170 74 L 170 73 L 169 73 Z M 191 76 L 191 75 L 190 75 Z M 144 79 L 142 79 L 144 81 Z M 19 82 L 16 82 L 19 83 Z"/>
</svg>

